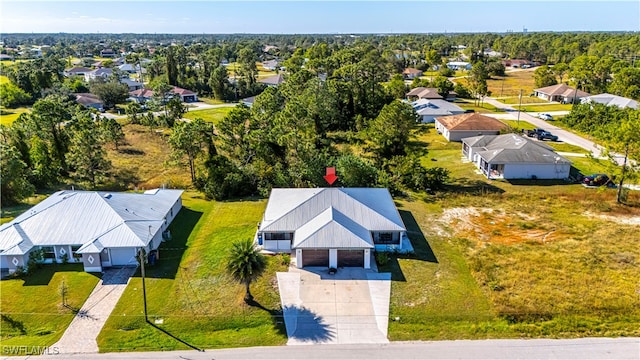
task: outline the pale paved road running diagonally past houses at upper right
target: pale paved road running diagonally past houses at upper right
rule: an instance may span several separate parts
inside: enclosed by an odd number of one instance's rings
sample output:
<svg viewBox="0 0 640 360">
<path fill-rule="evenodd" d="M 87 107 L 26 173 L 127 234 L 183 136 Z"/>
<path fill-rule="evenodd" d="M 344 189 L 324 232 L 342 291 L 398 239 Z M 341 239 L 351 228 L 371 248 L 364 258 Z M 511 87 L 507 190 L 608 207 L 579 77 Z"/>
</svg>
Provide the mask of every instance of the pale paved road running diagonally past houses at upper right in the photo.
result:
<svg viewBox="0 0 640 360">
<path fill-rule="evenodd" d="M 492 99 L 492 98 L 485 98 L 484 100 L 485 102 L 499 108 L 499 109 L 504 109 L 505 111 L 507 111 L 509 114 L 511 114 L 511 117 L 513 119 L 517 119 L 518 118 L 518 111 L 513 108 L 510 105 L 505 105 L 503 103 L 501 103 L 500 101 L 496 100 L 496 99 Z M 547 130 L 551 133 L 553 133 L 554 135 L 558 136 L 558 139 L 560 141 L 564 141 L 568 144 L 572 144 L 572 145 L 576 145 L 579 146 L 587 151 L 589 151 L 594 157 L 600 158 L 603 156 L 602 151 L 604 150 L 604 148 L 598 144 L 596 144 L 595 142 L 589 140 L 589 139 L 585 139 L 579 135 L 576 135 L 570 131 L 567 131 L 565 129 L 559 128 L 555 125 L 552 125 L 550 123 L 548 123 L 547 121 L 544 121 L 542 119 L 539 119 L 535 116 L 531 116 L 526 112 L 520 112 L 520 120 L 522 121 L 526 121 L 536 127 L 539 127 L 541 129 Z M 615 155 L 615 159 L 619 164 L 622 164 L 622 161 L 624 159 L 624 157 L 620 154 L 616 154 Z"/>
</svg>

